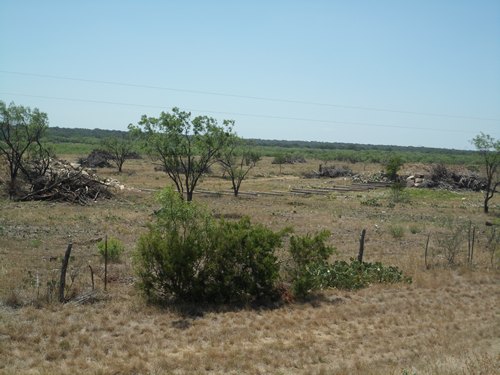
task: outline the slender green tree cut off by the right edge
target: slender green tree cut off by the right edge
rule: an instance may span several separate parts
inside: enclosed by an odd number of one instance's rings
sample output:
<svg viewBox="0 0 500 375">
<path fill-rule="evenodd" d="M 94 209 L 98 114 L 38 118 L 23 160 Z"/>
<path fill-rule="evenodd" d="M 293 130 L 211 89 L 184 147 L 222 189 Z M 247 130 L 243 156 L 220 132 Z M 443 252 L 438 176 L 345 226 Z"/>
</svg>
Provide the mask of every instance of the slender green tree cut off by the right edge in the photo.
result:
<svg viewBox="0 0 500 375">
<path fill-rule="evenodd" d="M 484 162 L 486 171 L 486 190 L 484 191 L 483 209 L 485 213 L 488 213 L 489 201 L 493 198 L 497 187 L 500 185 L 500 140 L 481 132 L 472 139 L 472 144 L 479 151 Z"/>
</svg>

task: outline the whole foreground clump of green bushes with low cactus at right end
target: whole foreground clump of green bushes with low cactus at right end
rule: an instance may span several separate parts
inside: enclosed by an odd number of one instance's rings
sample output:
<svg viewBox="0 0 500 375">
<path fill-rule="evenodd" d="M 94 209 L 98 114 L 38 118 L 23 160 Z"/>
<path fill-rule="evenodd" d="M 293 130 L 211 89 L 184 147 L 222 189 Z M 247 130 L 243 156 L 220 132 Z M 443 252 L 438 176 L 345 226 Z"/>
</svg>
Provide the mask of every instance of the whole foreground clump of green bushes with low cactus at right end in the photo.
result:
<svg viewBox="0 0 500 375">
<path fill-rule="evenodd" d="M 216 220 L 177 192 L 164 190 L 162 208 L 135 253 L 139 286 L 155 301 L 251 303 L 279 297 L 291 285 L 296 297 L 327 287 L 358 289 L 373 282 L 408 281 L 396 267 L 380 263 L 329 262 L 335 249 L 328 231 L 291 236 L 288 266 L 278 250 L 289 230 L 273 232 L 248 218 Z M 279 290 L 279 293 L 278 293 Z"/>
</svg>

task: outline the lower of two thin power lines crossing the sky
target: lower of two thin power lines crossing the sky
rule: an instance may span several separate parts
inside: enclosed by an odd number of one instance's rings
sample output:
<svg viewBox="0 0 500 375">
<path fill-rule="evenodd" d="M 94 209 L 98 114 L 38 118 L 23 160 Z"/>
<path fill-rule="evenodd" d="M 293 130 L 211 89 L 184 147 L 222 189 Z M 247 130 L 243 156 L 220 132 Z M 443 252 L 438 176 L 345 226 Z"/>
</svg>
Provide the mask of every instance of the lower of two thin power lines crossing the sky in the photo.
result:
<svg viewBox="0 0 500 375">
<path fill-rule="evenodd" d="M 150 105 L 150 104 L 123 103 L 123 102 L 113 102 L 113 101 L 94 100 L 94 99 L 63 98 L 63 97 L 56 97 L 56 96 L 31 95 L 31 94 L 12 93 L 12 92 L 0 92 L 0 95 L 13 95 L 13 96 L 28 97 L 28 98 L 63 100 L 63 101 L 69 101 L 69 102 L 81 102 L 81 103 L 92 103 L 92 104 L 110 104 L 110 105 L 119 105 L 119 106 L 126 106 L 126 107 L 165 109 L 164 106 Z M 416 126 L 377 124 L 377 123 L 369 123 L 369 122 L 321 120 L 321 119 L 311 119 L 311 118 L 273 116 L 273 115 L 263 115 L 263 114 L 253 114 L 253 113 L 225 112 L 225 111 L 190 109 L 190 108 L 185 108 L 185 110 L 190 111 L 190 112 L 211 113 L 211 114 L 218 114 L 218 115 L 245 116 L 245 117 L 253 117 L 253 118 L 267 118 L 267 119 L 273 119 L 273 120 L 314 122 L 314 123 L 323 123 L 323 124 L 356 125 L 356 126 L 394 128 L 394 129 L 410 129 L 410 130 L 428 130 L 428 131 L 438 131 L 438 132 L 447 132 L 447 133 L 465 133 L 465 134 L 475 133 L 475 132 L 463 131 L 463 130 L 457 130 L 457 129 L 422 128 L 422 127 L 416 127 Z"/>
</svg>

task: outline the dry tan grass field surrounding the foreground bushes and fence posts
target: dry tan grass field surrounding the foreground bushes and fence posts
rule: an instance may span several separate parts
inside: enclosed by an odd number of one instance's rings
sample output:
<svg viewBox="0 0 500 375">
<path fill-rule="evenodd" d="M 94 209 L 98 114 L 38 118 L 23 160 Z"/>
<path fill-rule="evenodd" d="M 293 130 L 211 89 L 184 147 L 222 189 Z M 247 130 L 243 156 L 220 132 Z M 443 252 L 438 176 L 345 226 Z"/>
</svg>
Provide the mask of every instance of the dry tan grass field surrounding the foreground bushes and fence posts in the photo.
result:
<svg viewBox="0 0 500 375">
<path fill-rule="evenodd" d="M 134 285 L 132 254 L 158 208 L 154 192 L 169 181 L 146 159 L 127 161 L 121 175 L 98 171 L 125 185 L 111 200 L 82 207 L 0 198 L 0 373 L 500 373 L 500 254 L 492 240 L 495 227 L 485 225 L 500 224 L 498 197 L 485 216 L 482 194 L 473 192 L 407 189 L 404 199 L 388 188 L 290 194 L 292 188 L 350 184 L 302 178 L 319 163 L 284 165 L 279 173 L 264 158 L 241 191 L 282 195 L 234 198 L 225 194 L 230 182 L 214 173 L 199 188 L 223 194 L 199 193 L 195 200 L 227 219 L 248 215 L 297 233 L 330 230 L 337 259 L 357 255 L 366 229 L 365 259 L 400 267 L 412 284 L 325 290 L 309 301 L 274 307 L 148 305 Z M 359 173 L 380 169 L 349 167 Z M 407 164 L 403 173 L 427 169 Z M 471 226 L 475 249 L 468 265 Z M 106 235 L 120 239 L 126 251 L 109 266 L 104 292 L 97 243 Z M 99 291 L 94 303 L 56 302 L 54 286 L 69 241 L 68 295 L 91 288 L 90 266 Z M 453 266 L 447 261 L 451 251 Z"/>
</svg>

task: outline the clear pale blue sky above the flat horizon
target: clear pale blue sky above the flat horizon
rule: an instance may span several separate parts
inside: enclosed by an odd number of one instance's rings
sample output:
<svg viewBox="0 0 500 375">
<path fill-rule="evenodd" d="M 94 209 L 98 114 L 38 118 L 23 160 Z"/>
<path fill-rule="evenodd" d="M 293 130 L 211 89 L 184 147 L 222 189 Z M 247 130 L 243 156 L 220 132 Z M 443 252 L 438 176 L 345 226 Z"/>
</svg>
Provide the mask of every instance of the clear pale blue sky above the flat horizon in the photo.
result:
<svg viewBox="0 0 500 375">
<path fill-rule="evenodd" d="M 500 138 L 500 1 L 0 0 L 0 100 L 125 130 L 176 106 L 245 138 Z"/>
</svg>

